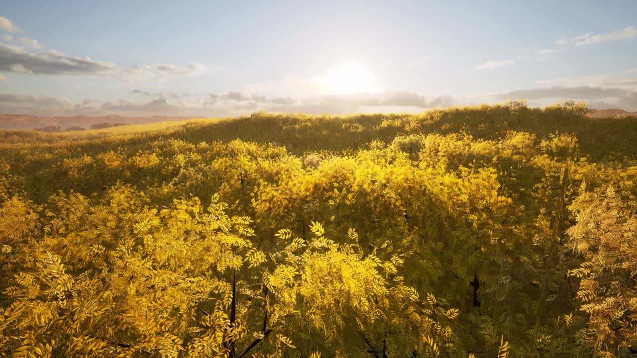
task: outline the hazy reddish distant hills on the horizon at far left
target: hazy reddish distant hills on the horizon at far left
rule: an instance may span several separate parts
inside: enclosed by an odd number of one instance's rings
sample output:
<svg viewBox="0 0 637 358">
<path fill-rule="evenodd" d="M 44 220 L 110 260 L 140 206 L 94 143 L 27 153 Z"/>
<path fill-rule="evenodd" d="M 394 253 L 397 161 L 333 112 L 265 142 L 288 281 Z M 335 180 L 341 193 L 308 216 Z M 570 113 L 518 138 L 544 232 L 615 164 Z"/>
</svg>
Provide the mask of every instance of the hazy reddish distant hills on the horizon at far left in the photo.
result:
<svg viewBox="0 0 637 358">
<path fill-rule="evenodd" d="M 48 127 L 60 127 L 60 131 L 69 128 L 91 128 L 93 125 L 108 124 L 110 126 L 124 124 L 145 124 L 153 122 L 166 122 L 169 120 L 188 120 L 192 118 L 204 117 L 124 117 L 120 115 L 106 115 L 102 117 L 90 117 L 76 115 L 69 117 L 38 117 L 34 115 L 0 114 L 0 129 L 20 129 L 32 131 L 34 129 L 44 129 Z M 105 126 L 104 126 L 105 127 Z"/>
</svg>

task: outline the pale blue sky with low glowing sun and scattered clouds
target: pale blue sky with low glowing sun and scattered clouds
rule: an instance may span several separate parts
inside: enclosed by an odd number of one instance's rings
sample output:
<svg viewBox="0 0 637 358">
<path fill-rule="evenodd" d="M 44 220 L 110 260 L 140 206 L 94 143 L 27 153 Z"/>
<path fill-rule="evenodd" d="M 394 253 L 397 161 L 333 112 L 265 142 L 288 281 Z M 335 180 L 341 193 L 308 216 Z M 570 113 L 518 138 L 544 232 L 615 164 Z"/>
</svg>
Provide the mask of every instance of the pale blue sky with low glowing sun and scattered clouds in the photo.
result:
<svg viewBox="0 0 637 358">
<path fill-rule="evenodd" d="M 0 113 L 637 111 L 637 1 L 5 1 Z"/>
</svg>

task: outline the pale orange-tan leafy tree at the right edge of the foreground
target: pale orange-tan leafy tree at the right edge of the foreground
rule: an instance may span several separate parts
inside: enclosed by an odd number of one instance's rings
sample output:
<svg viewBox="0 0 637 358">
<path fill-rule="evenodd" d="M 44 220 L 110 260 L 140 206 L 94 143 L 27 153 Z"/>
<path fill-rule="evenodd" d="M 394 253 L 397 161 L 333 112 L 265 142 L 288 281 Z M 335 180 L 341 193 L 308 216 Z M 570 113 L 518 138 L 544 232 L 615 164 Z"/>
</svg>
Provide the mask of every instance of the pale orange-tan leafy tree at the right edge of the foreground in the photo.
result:
<svg viewBox="0 0 637 358">
<path fill-rule="evenodd" d="M 585 344 L 596 347 L 624 347 L 635 343 L 634 324 L 637 296 L 633 277 L 637 273 L 637 218 L 630 192 L 618 192 L 613 185 L 593 191 L 580 188 L 571 210 L 577 224 L 568 229 L 574 251 L 587 257 L 569 275 L 579 279 L 576 298 L 579 310 L 589 316 Z M 630 313 L 629 313 L 630 312 Z M 564 317 L 567 325 L 571 317 Z"/>
</svg>

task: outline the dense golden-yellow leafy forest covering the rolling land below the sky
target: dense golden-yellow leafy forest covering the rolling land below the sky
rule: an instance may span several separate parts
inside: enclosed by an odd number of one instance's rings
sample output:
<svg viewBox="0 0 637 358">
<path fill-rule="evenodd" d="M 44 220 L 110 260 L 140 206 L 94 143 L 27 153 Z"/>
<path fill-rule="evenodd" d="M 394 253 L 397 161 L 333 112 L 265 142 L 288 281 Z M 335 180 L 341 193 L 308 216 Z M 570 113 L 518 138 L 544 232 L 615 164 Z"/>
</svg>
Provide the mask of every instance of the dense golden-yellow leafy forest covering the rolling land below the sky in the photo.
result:
<svg viewBox="0 0 637 358">
<path fill-rule="evenodd" d="M 0 357 L 630 357 L 637 117 L 0 131 Z"/>
</svg>

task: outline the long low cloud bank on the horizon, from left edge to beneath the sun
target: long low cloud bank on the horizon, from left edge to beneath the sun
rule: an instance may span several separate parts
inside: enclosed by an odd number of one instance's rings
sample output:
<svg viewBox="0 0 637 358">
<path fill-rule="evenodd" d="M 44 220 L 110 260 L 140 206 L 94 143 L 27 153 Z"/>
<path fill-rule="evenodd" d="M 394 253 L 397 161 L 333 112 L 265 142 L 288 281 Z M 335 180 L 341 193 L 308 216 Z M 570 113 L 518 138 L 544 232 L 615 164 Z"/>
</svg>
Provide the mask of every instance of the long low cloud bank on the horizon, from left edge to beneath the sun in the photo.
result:
<svg viewBox="0 0 637 358">
<path fill-rule="evenodd" d="M 152 92 L 136 94 L 154 95 Z M 66 98 L 52 96 L 0 95 L 0 113 L 30 115 L 171 115 L 227 117 L 258 110 L 302 112 L 310 114 L 369 113 L 380 111 L 423 111 L 427 108 L 447 107 L 454 104 L 451 97 L 425 97 L 415 92 L 385 92 L 382 94 L 327 95 L 315 97 L 273 97 L 228 91 L 224 94 L 180 94 L 160 96 L 152 101 L 102 102 L 87 99 L 73 104 Z"/>
</svg>

